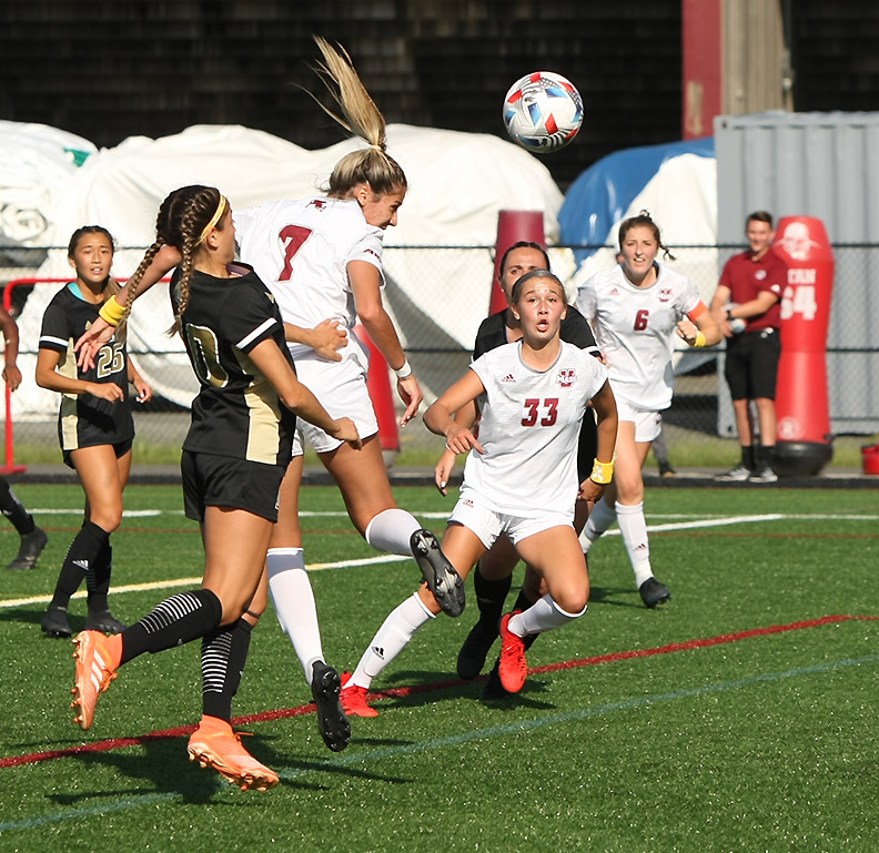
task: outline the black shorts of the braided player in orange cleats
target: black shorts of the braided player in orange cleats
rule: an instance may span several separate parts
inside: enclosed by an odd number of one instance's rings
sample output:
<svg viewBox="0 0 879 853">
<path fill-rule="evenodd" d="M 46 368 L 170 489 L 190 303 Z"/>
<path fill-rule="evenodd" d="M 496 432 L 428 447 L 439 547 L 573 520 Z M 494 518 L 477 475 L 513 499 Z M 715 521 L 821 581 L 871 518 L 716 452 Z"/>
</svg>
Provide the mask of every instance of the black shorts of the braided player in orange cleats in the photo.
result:
<svg viewBox="0 0 879 853">
<path fill-rule="evenodd" d="M 180 470 L 186 518 L 204 521 L 205 507 L 230 507 L 277 521 L 277 498 L 286 470 L 281 465 L 183 450 Z"/>
</svg>

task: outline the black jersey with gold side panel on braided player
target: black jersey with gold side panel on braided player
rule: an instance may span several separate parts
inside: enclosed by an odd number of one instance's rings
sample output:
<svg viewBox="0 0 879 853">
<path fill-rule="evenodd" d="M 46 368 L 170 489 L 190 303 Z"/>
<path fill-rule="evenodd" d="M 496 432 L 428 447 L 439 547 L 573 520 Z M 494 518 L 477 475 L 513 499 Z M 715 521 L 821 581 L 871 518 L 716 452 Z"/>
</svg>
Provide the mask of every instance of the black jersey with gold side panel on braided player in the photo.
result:
<svg viewBox="0 0 879 853">
<path fill-rule="evenodd" d="M 290 461 L 296 416 L 250 358 L 273 338 L 284 357 L 284 323 L 274 297 L 253 270 L 216 278 L 193 271 L 182 333 L 201 389 L 183 449 L 283 465 Z M 172 281 L 172 293 L 176 276 Z"/>
</svg>

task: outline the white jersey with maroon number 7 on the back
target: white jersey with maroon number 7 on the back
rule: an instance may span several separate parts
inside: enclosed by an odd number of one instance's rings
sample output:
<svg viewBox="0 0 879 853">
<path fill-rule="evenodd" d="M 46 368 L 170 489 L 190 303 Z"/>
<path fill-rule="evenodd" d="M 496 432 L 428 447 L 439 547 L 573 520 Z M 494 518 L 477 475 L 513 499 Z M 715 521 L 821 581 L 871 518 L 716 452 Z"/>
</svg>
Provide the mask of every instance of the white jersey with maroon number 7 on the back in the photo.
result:
<svg viewBox="0 0 879 853">
<path fill-rule="evenodd" d="M 313 328 L 337 319 L 354 327 L 347 264 L 366 261 L 381 275 L 384 236 L 356 201 L 320 195 L 245 207 L 232 216 L 241 257 L 274 294 L 285 321 Z M 302 349 L 307 347 L 291 346 L 293 357 L 307 357 Z"/>
</svg>

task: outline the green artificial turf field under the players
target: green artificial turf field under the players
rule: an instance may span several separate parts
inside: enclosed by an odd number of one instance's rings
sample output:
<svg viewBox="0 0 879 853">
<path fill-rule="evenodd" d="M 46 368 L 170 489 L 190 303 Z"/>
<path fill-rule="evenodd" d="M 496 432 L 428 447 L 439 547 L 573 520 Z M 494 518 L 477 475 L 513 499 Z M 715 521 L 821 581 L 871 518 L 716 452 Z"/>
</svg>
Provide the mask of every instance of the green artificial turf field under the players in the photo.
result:
<svg viewBox="0 0 879 853">
<path fill-rule="evenodd" d="M 374 702 L 381 715 L 355 718 L 339 754 L 317 734 L 270 609 L 235 702 L 247 748 L 281 775 L 264 794 L 186 760 L 184 727 L 200 715 L 198 643 L 131 662 L 92 729 L 73 724 L 72 646 L 39 624 L 82 492 L 16 491 L 50 542 L 36 570 L 0 569 L 3 853 L 872 853 L 879 844 L 876 490 L 648 490 L 668 606 L 640 605 L 622 541 L 607 536 L 590 555 L 588 613 L 535 643 L 518 698 L 485 703 L 482 682 L 456 680 L 471 601 L 459 620 L 441 617 L 416 634 L 374 686 L 387 691 Z M 444 528 L 451 498 L 426 487 L 396 494 Z M 110 600 L 132 621 L 174 585 L 198 583 L 201 544 L 179 487 L 131 487 L 127 507 Z M 418 572 L 365 545 L 335 489 L 306 489 L 303 508 L 327 660 L 353 668 Z M 0 528 L 3 565 L 17 542 Z M 84 600 L 71 613 L 81 628 Z"/>
</svg>

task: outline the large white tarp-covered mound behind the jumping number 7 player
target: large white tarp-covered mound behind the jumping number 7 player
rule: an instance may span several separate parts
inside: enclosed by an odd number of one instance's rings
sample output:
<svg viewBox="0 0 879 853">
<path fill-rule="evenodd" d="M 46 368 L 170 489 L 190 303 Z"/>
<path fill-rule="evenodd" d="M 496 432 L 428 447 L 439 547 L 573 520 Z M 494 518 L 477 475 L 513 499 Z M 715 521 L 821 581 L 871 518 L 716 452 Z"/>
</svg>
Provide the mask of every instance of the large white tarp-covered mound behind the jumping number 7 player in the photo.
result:
<svg viewBox="0 0 879 853">
<path fill-rule="evenodd" d="M 402 124 L 390 125 L 387 136 L 388 152 L 406 172 L 410 191 L 400 224 L 386 233 L 386 246 L 491 246 L 501 210 L 543 211 L 547 240 L 557 238 L 562 193 L 546 166 L 517 145 L 487 134 Z M 236 125 L 198 125 L 159 140 L 131 138 L 92 154 L 75 170 L 58 193 L 60 197 L 52 200 L 47 219 L 57 245 L 65 245 L 81 225 L 100 224 L 119 246 L 137 246 L 138 251 L 117 253 L 113 273 L 125 277 L 152 242 L 159 204 L 171 190 L 194 183 L 214 185 L 233 207 L 302 197 L 320 190 L 340 158 L 362 144 L 346 140 L 306 151 Z M 482 260 L 477 253 L 443 253 L 444 268 L 433 270 L 431 282 L 425 282 L 418 272 L 426 263 L 420 257 L 423 254 L 414 250 L 387 253 L 388 280 L 440 333 L 469 348 L 488 306 L 492 257 L 488 253 Z M 69 274 L 65 252 L 60 250 L 51 252 L 38 271 L 39 277 Z M 55 290 L 36 288 L 28 299 L 19 319 L 23 341 L 33 344 L 39 337 L 42 312 Z M 179 339 L 164 334 L 170 324 L 166 288 L 155 287 L 137 307 L 129 348 L 176 353 L 139 356 L 138 365 L 159 393 L 189 405 L 194 382 Z M 16 395 L 16 416 L 54 410 L 55 395 L 27 380 L 33 375 L 33 356 L 22 356 L 21 368 L 26 382 Z"/>
</svg>

